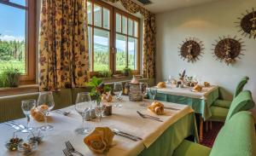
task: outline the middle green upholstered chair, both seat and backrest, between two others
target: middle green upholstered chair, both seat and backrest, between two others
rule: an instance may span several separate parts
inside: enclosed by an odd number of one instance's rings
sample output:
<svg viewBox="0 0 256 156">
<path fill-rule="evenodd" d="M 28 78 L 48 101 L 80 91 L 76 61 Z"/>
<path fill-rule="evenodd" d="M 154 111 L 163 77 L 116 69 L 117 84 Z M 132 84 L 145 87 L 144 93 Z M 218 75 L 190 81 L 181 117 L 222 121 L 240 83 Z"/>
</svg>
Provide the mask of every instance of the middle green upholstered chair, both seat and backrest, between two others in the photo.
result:
<svg viewBox="0 0 256 156">
<path fill-rule="evenodd" d="M 210 107 L 212 117 L 209 121 L 225 121 L 230 119 L 232 115 L 240 111 L 247 111 L 254 107 L 252 93 L 249 90 L 241 91 L 239 95 L 235 97 L 229 108 L 224 107 Z"/>
</svg>

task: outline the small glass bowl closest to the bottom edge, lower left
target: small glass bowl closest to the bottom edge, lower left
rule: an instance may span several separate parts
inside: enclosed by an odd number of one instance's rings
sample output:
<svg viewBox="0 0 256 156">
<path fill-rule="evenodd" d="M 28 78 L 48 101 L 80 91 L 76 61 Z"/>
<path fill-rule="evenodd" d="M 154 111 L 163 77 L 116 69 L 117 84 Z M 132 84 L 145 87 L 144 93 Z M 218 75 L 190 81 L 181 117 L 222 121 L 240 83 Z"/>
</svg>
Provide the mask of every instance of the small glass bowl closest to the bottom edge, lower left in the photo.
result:
<svg viewBox="0 0 256 156">
<path fill-rule="evenodd" d="M 38 142 L 21 142 L 18 146 L 18 150 L 24 155 L 29 155 L 38 150 Z"/>
</svg>

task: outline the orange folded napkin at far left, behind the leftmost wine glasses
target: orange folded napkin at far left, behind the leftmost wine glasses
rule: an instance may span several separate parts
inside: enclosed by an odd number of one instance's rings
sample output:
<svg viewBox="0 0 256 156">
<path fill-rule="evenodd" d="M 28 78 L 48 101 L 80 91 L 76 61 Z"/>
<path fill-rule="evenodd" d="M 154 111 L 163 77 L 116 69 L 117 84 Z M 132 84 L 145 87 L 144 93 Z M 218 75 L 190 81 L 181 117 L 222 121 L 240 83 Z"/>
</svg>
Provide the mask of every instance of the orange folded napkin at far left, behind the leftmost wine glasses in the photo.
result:
<svg viewBox="0 0 256 156">
<path fill-rule="evenodd" d="M 44 121 L 44 111 L 48 109 L 47 105 L 41 105 L 38 107 L 32 107 L 30 110 L 32 118 L 34 118 L 36 121 Z"/>
</svg>

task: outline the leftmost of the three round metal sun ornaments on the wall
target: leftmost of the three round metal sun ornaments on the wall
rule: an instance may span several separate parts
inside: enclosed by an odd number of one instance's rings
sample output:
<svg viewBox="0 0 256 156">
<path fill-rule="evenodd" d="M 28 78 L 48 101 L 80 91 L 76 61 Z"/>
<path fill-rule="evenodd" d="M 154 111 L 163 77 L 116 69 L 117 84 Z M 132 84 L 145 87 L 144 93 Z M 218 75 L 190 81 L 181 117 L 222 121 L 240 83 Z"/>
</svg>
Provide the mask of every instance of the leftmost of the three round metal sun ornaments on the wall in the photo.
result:
<svg viewBox="0 0 256 156">
<path fill-rule="evenodd" d="M 204 47 L 202 41 L 198 38 L 186 38 L 186 41 L 183 41 L 183 43 L 180 43 L 179 45 L 179 55 L 183 61 L 187 60 L 188 62 L 191 61 L 193 63 L 200 60 L 199 56 L 201 56 Z"/>
</svg>

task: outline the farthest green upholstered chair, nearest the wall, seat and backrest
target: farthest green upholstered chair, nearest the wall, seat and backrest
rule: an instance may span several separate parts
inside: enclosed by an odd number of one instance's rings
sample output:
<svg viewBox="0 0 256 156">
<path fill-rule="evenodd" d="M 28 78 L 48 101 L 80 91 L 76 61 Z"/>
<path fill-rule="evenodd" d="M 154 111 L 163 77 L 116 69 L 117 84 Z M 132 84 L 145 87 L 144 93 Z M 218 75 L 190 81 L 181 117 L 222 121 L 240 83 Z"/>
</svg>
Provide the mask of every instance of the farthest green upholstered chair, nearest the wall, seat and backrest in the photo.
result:
<svg viewBox="0 0 256 156">
<path fill-rule="evenodd" d="M 234 93 L 234 95 L 233 95 L 233 99 L 234 99 L 237 95 L 239 95 L 239 93 L 243 90 L 243 87 L 245 86 L 245 84 L 247 84 L 247 81 L 248 81 L 248 80 L 249 80 L 248 77 L 241 78 L 241 81 L 240 81 L 239 84 L 237 84 L 237 86 L 236 86 L 236 90 L 235 90 L 235 93 Z M 212 104 L 212 106 L 229 108 L 231 102 L 232 102 L 232 101 L 217 100 L 217 101 L 214 101 L 214 103 Z"/>
</svg>

